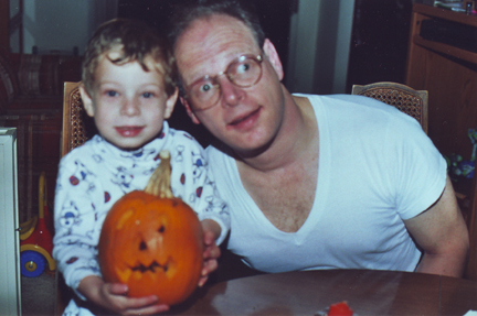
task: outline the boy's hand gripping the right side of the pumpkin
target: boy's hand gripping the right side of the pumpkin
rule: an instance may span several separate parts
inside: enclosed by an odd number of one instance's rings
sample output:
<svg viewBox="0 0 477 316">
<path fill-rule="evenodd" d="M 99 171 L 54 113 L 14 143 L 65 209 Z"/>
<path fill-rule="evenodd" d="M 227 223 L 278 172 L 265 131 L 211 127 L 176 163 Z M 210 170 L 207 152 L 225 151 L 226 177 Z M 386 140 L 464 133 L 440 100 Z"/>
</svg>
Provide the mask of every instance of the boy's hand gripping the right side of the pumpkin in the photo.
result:
<svg viewBox="0 0 477 316">
<path fill-rule="evenodd" d="M 215 240 L 219 238 L 221 233 L 220 226 L 212 219 L 202 220 L 202 229 L 203 229 L 203 268 L 202 275 L 199 279 L 199 286 L 205 284 L 209 275 L 214 272 L 218 266 L 218 259 L 221 255 L 220 248 L 216 246 Z"/>
</svg>

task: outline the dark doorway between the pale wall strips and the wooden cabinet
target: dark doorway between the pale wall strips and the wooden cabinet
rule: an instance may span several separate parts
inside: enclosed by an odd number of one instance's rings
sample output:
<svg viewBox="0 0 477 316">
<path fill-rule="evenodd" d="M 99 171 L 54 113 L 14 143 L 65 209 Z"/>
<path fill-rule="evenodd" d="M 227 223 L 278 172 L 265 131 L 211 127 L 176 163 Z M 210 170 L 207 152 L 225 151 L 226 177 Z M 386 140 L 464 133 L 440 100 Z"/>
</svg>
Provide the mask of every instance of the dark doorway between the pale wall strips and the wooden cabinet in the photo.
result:
<svg viewBox="0 0 477 316">
<path fill-rule="evenodd" d="M 356 0 L 347 91 L 375 81 L 404 84 L 412 0 Z"/>
</svg>

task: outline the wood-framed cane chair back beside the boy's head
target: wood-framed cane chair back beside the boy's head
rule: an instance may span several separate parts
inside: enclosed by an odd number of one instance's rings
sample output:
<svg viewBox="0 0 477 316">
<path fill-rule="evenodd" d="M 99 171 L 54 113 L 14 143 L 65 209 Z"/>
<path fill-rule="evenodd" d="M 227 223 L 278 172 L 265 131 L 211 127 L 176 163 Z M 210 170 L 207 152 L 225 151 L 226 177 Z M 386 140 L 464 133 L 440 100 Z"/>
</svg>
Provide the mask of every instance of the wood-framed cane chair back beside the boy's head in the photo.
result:
<svg viewBox="0 0 477 316">
<path fill-rule="evenodd" d="M 96 133 L 92 118 L 86 115 L 80 95 L 80 83 L 64 83 L 63 131 L 61 155 L 81 146 Z"/>
</svg>

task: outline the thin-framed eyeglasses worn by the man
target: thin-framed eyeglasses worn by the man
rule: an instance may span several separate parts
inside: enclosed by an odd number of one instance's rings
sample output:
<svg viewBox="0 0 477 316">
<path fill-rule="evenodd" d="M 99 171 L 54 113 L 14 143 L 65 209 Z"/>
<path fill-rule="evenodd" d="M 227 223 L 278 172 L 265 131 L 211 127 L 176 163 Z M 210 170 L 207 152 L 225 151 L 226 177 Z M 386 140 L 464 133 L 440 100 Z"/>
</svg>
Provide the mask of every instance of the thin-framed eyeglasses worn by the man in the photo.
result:
<svg viewBox="0 0 477 316">
<path fill-rule="evenodd" d="M 246 85 L 246 86 L 241 86 L 241 85 L 237 85 L 236 83 L 234 83 L 233 78 L 232 78 L 227 73 L 229 73 L 229 69 L 231 69 L 231 67 L 232 67 L 233 65 L 235 65 L 235 64 L 237 64 L 237 63 L 241 63 L 241 62 L 243 62 L 243 61 L 246 61 L 246 59 L 255 61 L 255 62 L 258 64 L 258 66 L 259 66 L 259 75 L 258 75 L 258 77 L 256 78 L 256 80 L 255 80 L 253 84 L 251 84 L 251 85 Z M 229 81 L 230 81 L 232 85 L 234 85 L 234 86 L 236 86 L 236 87 L 240 87 L 240 88 L 250 88 L 250 87 L 253 87 L 253 86 L 255 86 L 256 84 L 258 84 L 258 81 L 262 79 L 262 75 L 263 75 L 263 68 L 262 68 L 262 63 L 263 63 L 263 61 L 264 61 L 263 54 L 258 54 L 258 55 L 254 55 L 254 54 L 243 54 L 243 55 L 236 57 L 235 59 L 233 59 L 233 61 L 232 61 L 232 62 L 226 66 L 226 68 L 225 68 L 224 72 L 220 72 L 220 73 L 216 74 L 215 76 L 205 75 L 205 76 L 203 76 L 203 77 L 201 77 L 201 78 L 194 80 L 192 84 L 188 85 L 188 90 L 190 90 L 190 87 L 194 86 L 197 83 L 199 83 L 199 81 L 201 81 L 201 80 L 211 80 L 211 81 L 214 83 L 216 86 L 219 86 L 219 97 L 218 97 L 218 99 L 216 99 L 212 105 L 210 105 L 210 106 L 208 106 L 208 107 L 205 107 L 205 108 L 201 108 L 201 109 L 198 109 L 198 108 L 195 108 L 193 105 L 191 105 L 192 108 L 193 108 L 195 111 L 205 111 L 205 110 L 209 110 L 210 108 L 213 108 L 214 106 L 216 106 L 216 105 L 219 103 L 220 97 L 222 96 L 222 88 L 221 88 L 221 85 L 220 85 L 219 81 L 218 81 L 218 77 L 219 77 L 219 76 L 225 75 L 225 77 L 229 79 Z M 183 98 L 190 100 L 190 96 L 189 96 L 188 92 L 186 91 L 186 87 L 181 86 L 180 88 L 181 88 L 181 90 L 182 90 Z"/>
</svg>

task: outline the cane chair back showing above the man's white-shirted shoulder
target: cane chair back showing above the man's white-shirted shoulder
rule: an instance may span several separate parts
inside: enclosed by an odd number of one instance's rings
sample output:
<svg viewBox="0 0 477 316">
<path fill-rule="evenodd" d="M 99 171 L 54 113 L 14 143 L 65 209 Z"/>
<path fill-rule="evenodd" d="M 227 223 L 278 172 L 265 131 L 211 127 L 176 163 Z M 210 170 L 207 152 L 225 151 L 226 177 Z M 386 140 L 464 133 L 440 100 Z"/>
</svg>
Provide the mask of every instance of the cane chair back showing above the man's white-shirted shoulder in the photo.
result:
<svg viewBox="0 0 477 316">
<path fill-rule="evenodd" d="M 365 86 L 353 85 L 351 95 L 370 97 L 398 108 L 416 119 L 427 133 L 427 91 L 384 81 Z"/>
</svg>

